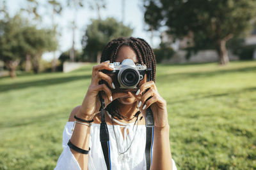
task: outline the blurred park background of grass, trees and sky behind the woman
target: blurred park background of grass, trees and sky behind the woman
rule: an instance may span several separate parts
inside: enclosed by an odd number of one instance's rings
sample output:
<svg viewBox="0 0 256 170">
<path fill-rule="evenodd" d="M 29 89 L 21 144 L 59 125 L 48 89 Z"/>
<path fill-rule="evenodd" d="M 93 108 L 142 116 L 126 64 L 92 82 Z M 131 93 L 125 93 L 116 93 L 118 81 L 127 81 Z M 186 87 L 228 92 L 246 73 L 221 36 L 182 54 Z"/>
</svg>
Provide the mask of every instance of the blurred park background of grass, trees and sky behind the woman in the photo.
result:
<svg viewBox="0 0 256 170">
<path fill-rule="evenodd" d="M 0 0 L 0 169 L 53 169 L 111 39 L 157 60 L 178 169 L 256 169 L 256 1 Z"/>
</svg>

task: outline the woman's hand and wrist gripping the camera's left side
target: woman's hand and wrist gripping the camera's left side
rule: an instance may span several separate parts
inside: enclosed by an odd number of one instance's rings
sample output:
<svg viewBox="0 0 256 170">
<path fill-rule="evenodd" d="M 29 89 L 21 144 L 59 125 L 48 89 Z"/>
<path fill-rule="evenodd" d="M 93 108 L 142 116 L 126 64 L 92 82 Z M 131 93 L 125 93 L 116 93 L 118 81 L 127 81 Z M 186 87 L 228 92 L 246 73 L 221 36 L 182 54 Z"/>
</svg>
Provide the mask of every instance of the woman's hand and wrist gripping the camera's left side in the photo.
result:
<svg viewBox="0 0 256 170">
<path fill-rule="evenodd" d="M 96 113 L 99 112 L 100 109 L 100 99 L 99 99 L 99 92 L 103 91 L 101 93 L 102 99 L 104 99 L 105 107 L 108 106 L 109 103 L 111 103 L 113 100 L 115 100 L 118 97 L 125 97 L 128 96 L 127 92 L 118 92 L 113 93 L 111 92 L 111 89 L 108 88 L 108 86 L 104 83 L 99 84 L 100 80 L 104 80 L 108 83 L 109 87 L 113 88 L 113 81 L 108 74 L 102 73 L 101 70 L 113 70 L 112 67 L 109 67 L 109 60 L 105 62 L 101 62 L 97 66 L 93 66 L 92 69 L 92 82 L 90 86 L 88 87 L 86 96 L 84 97 L 82 106 L 79 108 L 79 111 L 77 112 L 77 117 L 83 118 L 85 120 L 92 120 L 92 118 L 95 116 Z"/>
</svg>

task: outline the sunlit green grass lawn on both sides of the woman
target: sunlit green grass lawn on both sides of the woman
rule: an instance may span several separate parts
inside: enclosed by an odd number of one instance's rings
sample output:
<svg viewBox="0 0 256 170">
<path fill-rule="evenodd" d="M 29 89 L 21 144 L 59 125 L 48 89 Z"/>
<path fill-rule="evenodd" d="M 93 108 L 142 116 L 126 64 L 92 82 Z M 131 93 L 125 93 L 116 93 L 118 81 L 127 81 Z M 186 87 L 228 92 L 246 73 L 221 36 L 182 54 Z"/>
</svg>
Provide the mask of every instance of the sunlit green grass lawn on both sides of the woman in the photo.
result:
<svg viewBox="0 0 256 170">
<path fill-rule="evenodd" d="M 0 78 L 0 169 L 53 169 L 92 66 Z M 256 169 L 256 62 L 157 65 L 178 169 Z"/>
</svg>

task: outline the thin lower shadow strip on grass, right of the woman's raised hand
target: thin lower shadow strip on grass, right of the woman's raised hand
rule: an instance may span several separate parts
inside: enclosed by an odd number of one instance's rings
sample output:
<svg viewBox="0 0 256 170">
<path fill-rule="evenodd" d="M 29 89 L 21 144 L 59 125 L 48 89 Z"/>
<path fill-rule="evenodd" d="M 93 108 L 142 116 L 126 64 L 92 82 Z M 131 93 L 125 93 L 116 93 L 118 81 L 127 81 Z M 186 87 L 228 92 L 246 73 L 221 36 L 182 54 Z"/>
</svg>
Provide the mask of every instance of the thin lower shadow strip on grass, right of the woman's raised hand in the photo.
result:
<svg viewBox="0 0 256 170">
<path fill-rule="evenodd" d="M 256 87 L 249 87 L 249 88 L 244 88 L 244 89 L 241 89 L 241 90 L 234 90 L 234 91 L 230 91 L 228 93 L 222 93 L 222 94 L 203 95 L 203 96 L 193 97 L 193 98 L 190 98 L 190 99 L 184 99 L 184 100 L 180 100 L 180 101 L 168 102 L 168 104 L 186 103 L 188 101 L 196 101 L 198 99 L 222 97 L 222 96 L 228 96 L 228 95 L 231 95 L 231 94 L 241 94 L 243 92 L 253 92 L 253 91 L 256 91 Z M 198 95 L 200 95 L 200 94 L 198 94 Z"/>
</svg>

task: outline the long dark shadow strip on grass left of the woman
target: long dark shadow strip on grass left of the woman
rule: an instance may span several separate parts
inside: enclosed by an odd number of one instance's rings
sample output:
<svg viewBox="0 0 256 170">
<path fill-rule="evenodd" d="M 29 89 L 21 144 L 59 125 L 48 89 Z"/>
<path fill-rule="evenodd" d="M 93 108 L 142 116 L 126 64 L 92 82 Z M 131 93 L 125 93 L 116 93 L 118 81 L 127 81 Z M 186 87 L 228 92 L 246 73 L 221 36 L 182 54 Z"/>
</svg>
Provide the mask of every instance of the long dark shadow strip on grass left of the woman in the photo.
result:
<svg viewBox="0 0 256 170">
<path fill-rule="evenodd" d="M 36 80 L 36 81 L 27 81 L 22 83 L 9 83 L 6 85 L 0 85 L 0 92 L 6 92 L 8 90 L 24 89 L 27 87 L 46 87 L 49 85 L 57 85 L 61 83 L 67 83 L 70 81 L 86 80 L 88 78 L 91 78 L 91 75 L 48 78 L 48 79 L 42 79 L 42 80 Z"/>
</svg>

